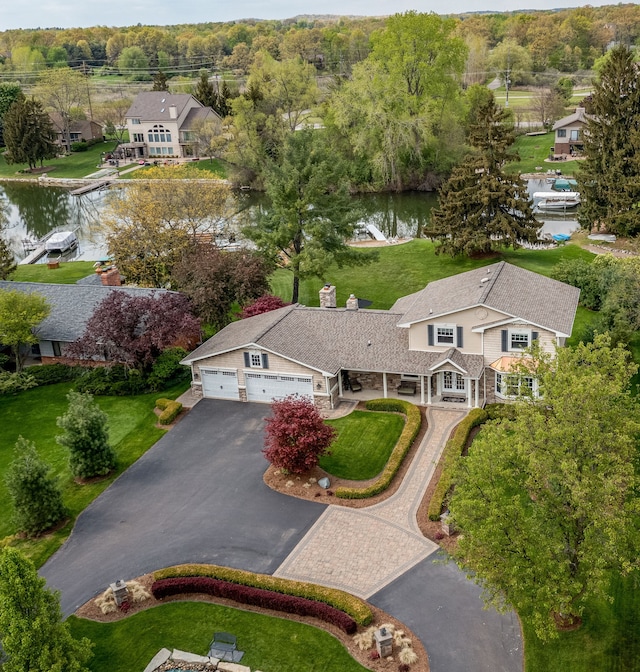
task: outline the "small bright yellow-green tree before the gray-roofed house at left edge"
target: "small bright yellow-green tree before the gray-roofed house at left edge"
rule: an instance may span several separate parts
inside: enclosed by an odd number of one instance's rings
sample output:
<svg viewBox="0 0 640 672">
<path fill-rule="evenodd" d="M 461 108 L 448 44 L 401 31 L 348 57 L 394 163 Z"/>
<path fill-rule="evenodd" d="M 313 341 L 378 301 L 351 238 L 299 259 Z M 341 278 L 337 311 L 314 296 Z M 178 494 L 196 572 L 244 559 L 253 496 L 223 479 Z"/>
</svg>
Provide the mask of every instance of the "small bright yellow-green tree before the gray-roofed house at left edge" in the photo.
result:
<svg viewBox="0 0 640 672">
<path fill-rule="evenodd" d="M 0 290 L 0 343 L 11 348 L 18 373 L 27 356 L 25 346 L 38 342 L 35 329 L 49 310 L 46 299 L 36 292 Z"/>
</svg>

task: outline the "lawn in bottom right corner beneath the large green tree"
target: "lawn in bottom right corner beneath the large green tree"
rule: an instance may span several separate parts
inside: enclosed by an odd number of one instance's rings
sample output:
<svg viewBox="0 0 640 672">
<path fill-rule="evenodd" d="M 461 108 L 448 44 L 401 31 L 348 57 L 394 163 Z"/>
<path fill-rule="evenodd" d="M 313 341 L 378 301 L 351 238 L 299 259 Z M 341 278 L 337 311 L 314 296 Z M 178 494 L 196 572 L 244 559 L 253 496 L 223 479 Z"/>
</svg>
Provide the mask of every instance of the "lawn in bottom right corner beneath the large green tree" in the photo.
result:
<svg viewBox="0 0 640 672">
<path fill-rule="evenodd" d="M 527 672 L 640 670 L 640 591 L 634 577 L 612 576 L 609 595 L 612 602 L 590 600 L 582 627 L 551 642 L 541 642 L 523 618 Z"/>
</svg>

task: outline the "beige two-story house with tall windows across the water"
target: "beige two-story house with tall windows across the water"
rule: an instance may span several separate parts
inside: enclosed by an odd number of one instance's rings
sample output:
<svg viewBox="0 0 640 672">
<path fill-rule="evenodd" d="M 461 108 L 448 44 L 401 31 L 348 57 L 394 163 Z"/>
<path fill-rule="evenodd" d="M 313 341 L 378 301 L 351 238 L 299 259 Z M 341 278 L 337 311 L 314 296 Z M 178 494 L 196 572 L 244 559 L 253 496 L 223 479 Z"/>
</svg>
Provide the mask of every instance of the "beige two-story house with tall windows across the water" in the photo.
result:
<svg viewBox="0 0 640 672">
<path fill-rule="evenodd" d="M 139 93 L 125 118 L 129 142 L 120 148 L 134 159 L 197 157 L 198 126 L 220 119 L 192 95 L 167 91 Z"/>
</svg>

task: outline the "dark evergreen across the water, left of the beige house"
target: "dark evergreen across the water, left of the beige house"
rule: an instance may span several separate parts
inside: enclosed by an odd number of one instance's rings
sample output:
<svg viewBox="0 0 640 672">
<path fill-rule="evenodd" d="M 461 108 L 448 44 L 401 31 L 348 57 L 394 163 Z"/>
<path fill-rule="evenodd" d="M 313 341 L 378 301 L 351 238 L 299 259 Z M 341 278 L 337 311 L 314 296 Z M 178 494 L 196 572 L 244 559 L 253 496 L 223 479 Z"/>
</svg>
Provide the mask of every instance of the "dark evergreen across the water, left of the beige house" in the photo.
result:
<svg viewBox="0 0 640 672">
<path fill-rule="evenodd" d="M 32 170 L 58 153 L 56 132 L 49 115 L 35 100 L 19 99 L 4 116 L 5 159 L 8 164 L 28 163 Z"/>
</svg>

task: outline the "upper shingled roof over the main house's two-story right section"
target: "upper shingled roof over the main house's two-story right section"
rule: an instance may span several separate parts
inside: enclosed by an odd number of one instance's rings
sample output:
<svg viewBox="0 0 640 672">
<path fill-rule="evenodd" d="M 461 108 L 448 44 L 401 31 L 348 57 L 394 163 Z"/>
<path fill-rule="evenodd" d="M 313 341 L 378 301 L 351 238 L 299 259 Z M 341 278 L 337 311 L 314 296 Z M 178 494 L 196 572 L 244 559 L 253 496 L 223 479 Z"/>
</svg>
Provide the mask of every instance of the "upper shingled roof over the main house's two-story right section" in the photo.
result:
<svg viewBox="0 0 640 672">
<path fill-rule="evenodd" d="M 521 318 L 570 336 L 580 290 L 539 273 L 501 261 L 466 273 L 430 282 L 423 290 L 396 301 L 392 312 L 402 312 L 399 327 L 439 316 L 486 306 L 505 317 Z"/>
</svg>

